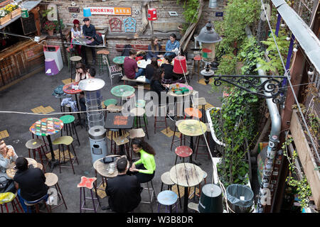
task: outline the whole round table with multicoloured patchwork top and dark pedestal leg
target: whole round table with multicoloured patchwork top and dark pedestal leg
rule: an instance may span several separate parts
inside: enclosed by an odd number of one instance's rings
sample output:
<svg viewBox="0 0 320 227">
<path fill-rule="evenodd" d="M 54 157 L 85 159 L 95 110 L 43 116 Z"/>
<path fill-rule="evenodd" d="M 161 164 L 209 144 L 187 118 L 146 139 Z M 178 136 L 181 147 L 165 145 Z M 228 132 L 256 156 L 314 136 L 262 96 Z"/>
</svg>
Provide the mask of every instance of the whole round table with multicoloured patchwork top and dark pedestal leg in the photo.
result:
<svg viewBox="0 0 320 227">
<path fill-rule="evenodd" d="M 58 133 L 62 128 L 63 121 L 61 121 L 59 118 L 42 118 L 41 120 L 33 123 L 33 125 L 29 128 L 29 131 L 31 131 L 31 133 L 47 137 L 52 157 L 50 161 L 51 170 L 53 170 L 53 167 L 58 164 L 58 160 L 55 160 L 55 154 L 53 153 L 53 146 L 50 135 Z"/>
</svg>

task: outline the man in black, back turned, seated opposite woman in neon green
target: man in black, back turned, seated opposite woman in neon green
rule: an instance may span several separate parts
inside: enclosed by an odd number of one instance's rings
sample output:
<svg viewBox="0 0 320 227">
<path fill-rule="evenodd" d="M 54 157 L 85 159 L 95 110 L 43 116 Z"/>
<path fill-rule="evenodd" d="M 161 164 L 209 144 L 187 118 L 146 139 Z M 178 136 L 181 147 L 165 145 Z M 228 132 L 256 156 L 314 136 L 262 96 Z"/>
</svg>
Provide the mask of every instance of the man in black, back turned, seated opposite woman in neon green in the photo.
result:
<svg viewBox="0 0 320 227">
<path fill-rule="evenodd" d="M 105 192 L 109 196 L 110 209 L 114 212 L 132 211 L 141 201 L 140 184 L 136 176 L 127 175 L 128 169 L 127 157 L 121 157 L 117 160 L 117 177 L 107 179 Z"/>
</svg>

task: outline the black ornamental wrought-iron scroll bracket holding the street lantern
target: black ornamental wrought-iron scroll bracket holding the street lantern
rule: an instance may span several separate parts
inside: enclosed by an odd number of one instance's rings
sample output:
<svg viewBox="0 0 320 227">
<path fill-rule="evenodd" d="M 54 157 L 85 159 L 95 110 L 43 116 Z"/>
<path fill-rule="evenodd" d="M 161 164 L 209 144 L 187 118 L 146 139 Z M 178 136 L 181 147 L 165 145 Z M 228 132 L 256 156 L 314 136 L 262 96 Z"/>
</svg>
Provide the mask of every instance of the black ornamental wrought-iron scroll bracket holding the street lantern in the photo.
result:
<svg viewBox="0 0 320 227">
<path fill-rule="evenodd" d="M 287 87 L 282 87 L 282 82 L 287 77 L 284 76 L 213 75 L 211 77 L 215 77 L 215 86 L 220 86 L 222 82 L 227 82 L 263 99 L 272 99 L 275 104 L 283 103 L 285 100 L 284 94 L 287 92 Z M 267 80 L 260 82 L 260 78 L 266 78 Z"/>
</svg>

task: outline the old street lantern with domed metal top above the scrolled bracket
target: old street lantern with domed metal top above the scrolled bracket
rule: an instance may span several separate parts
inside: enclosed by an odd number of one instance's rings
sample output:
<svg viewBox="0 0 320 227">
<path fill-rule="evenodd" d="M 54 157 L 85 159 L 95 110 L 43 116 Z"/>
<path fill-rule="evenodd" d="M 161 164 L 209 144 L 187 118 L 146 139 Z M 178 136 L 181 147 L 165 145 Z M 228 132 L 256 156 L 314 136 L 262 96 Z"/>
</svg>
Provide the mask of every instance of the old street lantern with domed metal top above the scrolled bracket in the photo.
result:
<svg viewBox="0 0 320 227">
<path fill-rule="evenodd" d="M 210 77 L 215 74 L 213 70 L 218 69 L 218 62 L 215 62 L 215 43 L 219 43 L 222 38 L 213 29 L 213 24 L 208 21 L 206 26 L 201 29 L 197 40 L 202 45 L 201 58 L 206 63 L 205 69 L 201 71 L 201 74 L 205 77 L 206 84 L 208 84 Z"/>
</svg>

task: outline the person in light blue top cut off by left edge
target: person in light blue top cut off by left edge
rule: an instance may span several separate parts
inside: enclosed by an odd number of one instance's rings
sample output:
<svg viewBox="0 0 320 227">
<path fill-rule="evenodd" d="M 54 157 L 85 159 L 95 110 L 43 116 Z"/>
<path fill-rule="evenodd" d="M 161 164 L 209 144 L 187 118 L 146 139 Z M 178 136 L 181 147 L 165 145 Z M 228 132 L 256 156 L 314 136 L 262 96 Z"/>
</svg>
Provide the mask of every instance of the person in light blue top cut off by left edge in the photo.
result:
<svg viewBox="0 0 320 227">
<path fill-rule="evenodd" d="M 14 147 L 11 145 L 6 145 L 4 140 L 0 141 L 0 182 L 3 182 L 6 179 L 9 179 L 6 175 L 6 169 L 10 167 L 11 162 L 15 162 L 18 158 Z"/>
</svg>

